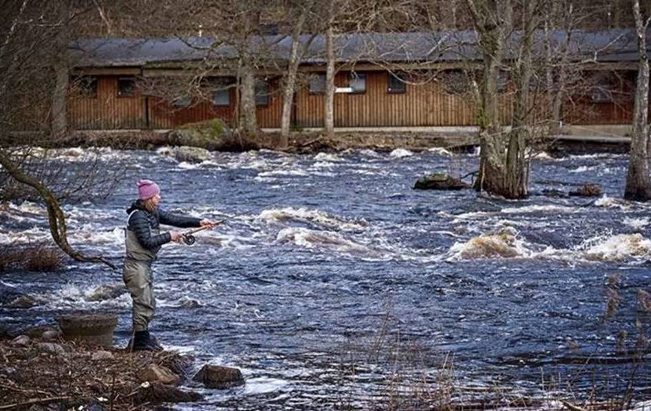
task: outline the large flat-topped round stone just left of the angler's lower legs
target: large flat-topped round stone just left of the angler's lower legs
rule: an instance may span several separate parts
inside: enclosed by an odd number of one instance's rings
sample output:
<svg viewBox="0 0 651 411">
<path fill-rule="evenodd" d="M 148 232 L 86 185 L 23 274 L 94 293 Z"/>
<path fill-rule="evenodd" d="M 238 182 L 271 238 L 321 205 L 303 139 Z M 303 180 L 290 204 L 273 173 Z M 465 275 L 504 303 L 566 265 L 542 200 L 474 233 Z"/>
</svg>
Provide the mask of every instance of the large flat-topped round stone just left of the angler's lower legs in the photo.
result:
<svg viewBox="0 0 651 411">
<path fill-rule="evenodd" d="M 57 319 L 66 340 L 76 340 L 104 347 L 113 346 L 113 331 L 117 315 L 64 315 Z"/>
</svg>

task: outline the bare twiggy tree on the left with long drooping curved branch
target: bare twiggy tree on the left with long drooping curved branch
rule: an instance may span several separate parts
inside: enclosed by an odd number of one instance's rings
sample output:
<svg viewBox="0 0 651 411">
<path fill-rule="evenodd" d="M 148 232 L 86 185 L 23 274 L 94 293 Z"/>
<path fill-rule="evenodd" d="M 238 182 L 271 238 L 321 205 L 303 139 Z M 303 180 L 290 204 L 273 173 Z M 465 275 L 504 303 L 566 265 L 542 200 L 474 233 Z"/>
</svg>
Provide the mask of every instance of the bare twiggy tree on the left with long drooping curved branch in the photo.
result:
<svg viewBox="0 0 651 411">
<path fill-rule="evenodd" d="M 58 118 L 60 113 L 52 113 L 54 106 L 61 104 L 62 89 L 67 80 L 52 80 L 52 72 L 56 77 L 67 76 L 67 69 L 59 69 L 65 65 L 58 60 L 60 56 L 60 41 L 66 34 L 62 30 L 69 29 L 67 4 L 45 0 L 23 0 L 19 3 L 3 1 L 3 14 L 0 19 L 0 67 L 3 76 L 0 78 L 0 165 L 3 170 L 3 184 L 9 179 L 36 190 L 47 205 L 50 233 L 54 242 L 63 252 L 76 260 L 102 261 L 115 267 L 102 256 L 86 256 L 74 249 L 67 241 L 67 225 L 56 192 L 41 179 L 34 177 L 26 167 L 30 158 L 30 147 L 37 144 L 52 144 L 52 140 L 61 137 L 65 122 L 58 119 L 54 127 L 49 129 L 47 118 L 43 113 L 50 113 Z M 51 71 L 52 69 L 52 71 Z M 61 71 L 59 71 L 61 70 Z M 38 85 L 38 87 L 36 87 Z M 43 91 L 46 93 L 43 93 Z M 36 91 L 36 92 L 35 92 Z M 47 92 L 49 91 L 49 93 Z M 40 114 L 40 115 L 39 115 Z M 33 129 L 33 133 L 23 133 L 21 144 L 25 150 L 15 151 L 11 144 L 16 143 L 14 132 L 20 129 Z M 55 134 L 56 131 L 56 134 Z M 44 165 L 45 168 L 48 164 Z"/>
</svg>

